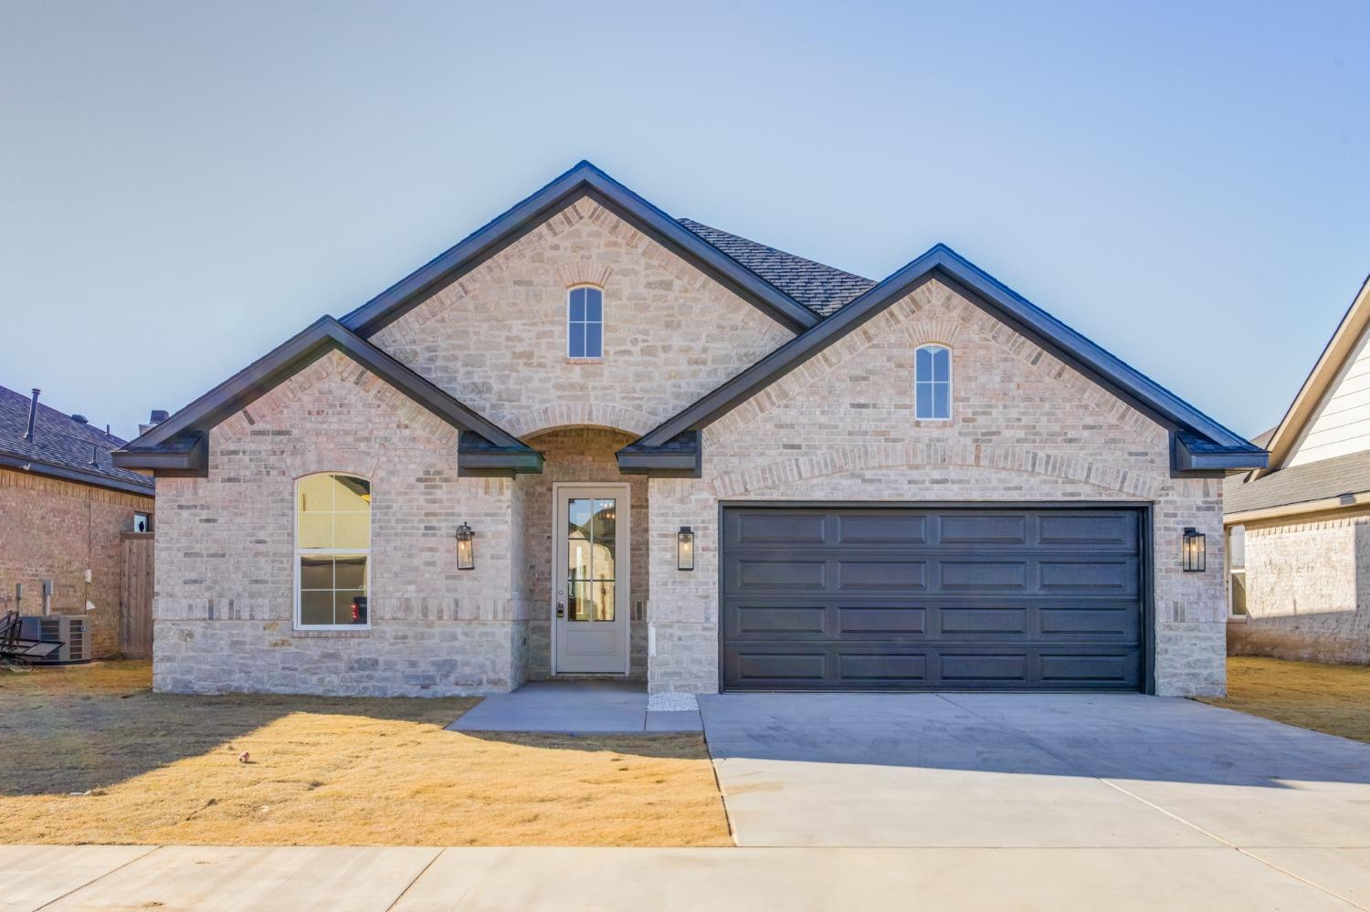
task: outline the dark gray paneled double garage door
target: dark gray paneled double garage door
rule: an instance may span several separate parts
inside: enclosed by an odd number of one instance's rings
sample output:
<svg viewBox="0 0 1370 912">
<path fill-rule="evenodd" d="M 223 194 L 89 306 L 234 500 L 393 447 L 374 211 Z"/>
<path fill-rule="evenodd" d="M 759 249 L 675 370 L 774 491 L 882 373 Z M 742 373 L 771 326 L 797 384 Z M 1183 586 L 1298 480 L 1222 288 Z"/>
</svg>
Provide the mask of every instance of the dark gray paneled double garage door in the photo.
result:
<svg viewBox="0 0 1370 912">
<path fill-rule="evenodd" d="M 1143 683 L 1136 509 L 723 509 L 729 690 Z"/>
</svg>

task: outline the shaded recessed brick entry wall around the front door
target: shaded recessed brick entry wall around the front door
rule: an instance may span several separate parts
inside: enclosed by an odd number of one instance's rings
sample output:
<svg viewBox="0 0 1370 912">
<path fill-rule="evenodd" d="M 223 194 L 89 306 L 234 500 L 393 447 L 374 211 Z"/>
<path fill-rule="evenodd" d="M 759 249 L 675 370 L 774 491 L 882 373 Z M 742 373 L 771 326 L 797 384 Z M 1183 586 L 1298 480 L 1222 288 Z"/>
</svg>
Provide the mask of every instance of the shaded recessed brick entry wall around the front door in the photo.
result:
<svg viewBox="0 0 1370 912">
<path fill-rule="evenodd" d="M 552 597 L 552 483 L 604 482 L 632 485 L 630 500 L 630 655 L 629 676 L 647 678 L 647 598 L 648 582 L 648 504 L 647 477 L 621 475 L 614 453 L 633 442 L 632 434 L 597 427 L 548 431 L 527 438 L 527 445 L 543 453 L 541 475 L 523 475 L 516 487 L 523 493 L 522 590 L 529 593 L 529 670 L 532 679 L 551 675 L 551 597 Z"/>
</svg>

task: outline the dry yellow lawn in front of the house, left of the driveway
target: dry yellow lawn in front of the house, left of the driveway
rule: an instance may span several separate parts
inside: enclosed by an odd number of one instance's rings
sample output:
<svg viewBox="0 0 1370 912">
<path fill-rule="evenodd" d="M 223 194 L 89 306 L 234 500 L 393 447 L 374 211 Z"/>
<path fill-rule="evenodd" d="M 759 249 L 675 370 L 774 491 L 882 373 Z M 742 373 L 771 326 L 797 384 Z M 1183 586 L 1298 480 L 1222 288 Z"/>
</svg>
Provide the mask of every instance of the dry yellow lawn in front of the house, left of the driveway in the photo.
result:
<svg viewBox="0 0 1370 912">
<path fill-rule="evenodd" d="M 475 702 L 0 670 L 0 842 L 732 845 L 699 734 L 444 731 Z"/>
</svg>

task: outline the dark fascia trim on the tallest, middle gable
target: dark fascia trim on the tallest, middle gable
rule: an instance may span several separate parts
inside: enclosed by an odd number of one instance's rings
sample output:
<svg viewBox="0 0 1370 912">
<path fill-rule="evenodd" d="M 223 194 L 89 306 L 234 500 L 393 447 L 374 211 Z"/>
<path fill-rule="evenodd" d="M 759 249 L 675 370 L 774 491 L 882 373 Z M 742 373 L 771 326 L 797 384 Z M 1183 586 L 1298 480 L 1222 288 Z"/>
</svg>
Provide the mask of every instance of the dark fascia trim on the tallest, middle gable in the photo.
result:
<svg viewBox="0 0 1370 912">
<path fill-rule="evenodd" d="M 589 196 L 658 242 L 681 253 L 711 278 L 792 331 L 799 333 L 818 323 L 818 315 L 789 294 L 600 168 L 589 162 L 580 162 L 495 220 L 477 229 L 456 246 L 344 316 L 342 325 L 363 337 L 370 337 L 581 196 Z"/>
</svg>

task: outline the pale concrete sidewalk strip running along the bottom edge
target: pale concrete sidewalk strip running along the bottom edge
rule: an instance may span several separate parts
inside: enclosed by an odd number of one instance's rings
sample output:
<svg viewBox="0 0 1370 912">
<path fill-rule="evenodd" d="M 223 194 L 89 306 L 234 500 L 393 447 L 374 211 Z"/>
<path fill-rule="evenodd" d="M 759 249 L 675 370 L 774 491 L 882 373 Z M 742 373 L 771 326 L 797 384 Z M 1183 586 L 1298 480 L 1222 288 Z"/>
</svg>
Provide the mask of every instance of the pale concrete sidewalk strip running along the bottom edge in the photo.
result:
<svg viewBox="0 0 1370 912">
<path fill-rule="evenodd" d="M 0 909 L 1365 908 L 1349 852 L 1312 886 L 1232 848 L 0 846 Z"/>
</svg>

